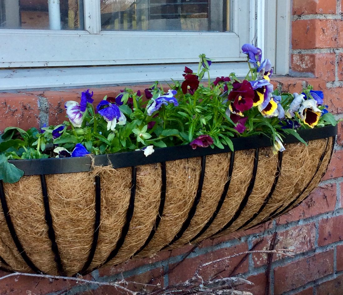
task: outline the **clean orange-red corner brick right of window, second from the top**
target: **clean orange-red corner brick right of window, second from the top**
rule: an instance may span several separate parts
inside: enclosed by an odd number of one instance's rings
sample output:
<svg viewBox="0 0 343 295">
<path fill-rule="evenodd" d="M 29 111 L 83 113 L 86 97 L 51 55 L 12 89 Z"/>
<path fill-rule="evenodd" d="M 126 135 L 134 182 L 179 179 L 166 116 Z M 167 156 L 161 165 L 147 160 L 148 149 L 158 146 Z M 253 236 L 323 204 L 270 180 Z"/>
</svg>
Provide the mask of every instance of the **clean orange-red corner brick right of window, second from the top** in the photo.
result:
<svg viewBox="0 0 343 295">
<path fill-rule="evenodd" d="M 296 20 L 292 22 L 292 48 L 315 49 L 341 47 L 342 22 L 332 19 Z"/>
</svg>

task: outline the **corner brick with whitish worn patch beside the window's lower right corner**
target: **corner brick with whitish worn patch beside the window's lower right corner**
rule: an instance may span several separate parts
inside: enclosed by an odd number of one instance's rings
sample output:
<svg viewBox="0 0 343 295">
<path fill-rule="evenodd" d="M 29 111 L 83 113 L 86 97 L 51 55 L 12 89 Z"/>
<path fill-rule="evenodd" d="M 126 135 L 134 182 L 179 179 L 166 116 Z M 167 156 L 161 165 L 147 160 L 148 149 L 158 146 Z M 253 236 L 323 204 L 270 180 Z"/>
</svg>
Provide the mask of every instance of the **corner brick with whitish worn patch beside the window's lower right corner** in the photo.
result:
<svg viewBox="0 0 343 295">
<path fill-rule="evenodd" d="M 311 73 L 324 81 L 335 81 L 335 54 L 292 54 L 291 69 L 300 73 Z"/>
</svg>

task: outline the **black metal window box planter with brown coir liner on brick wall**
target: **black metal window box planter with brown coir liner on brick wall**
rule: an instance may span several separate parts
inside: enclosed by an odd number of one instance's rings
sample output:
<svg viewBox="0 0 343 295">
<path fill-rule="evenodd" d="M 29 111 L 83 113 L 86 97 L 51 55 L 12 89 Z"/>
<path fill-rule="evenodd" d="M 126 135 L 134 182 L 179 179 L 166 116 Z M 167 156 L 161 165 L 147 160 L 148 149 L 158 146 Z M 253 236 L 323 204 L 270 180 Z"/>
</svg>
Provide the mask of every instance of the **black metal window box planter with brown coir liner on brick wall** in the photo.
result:
<svg viewBox="0 0 343 295">
<path fill-rule="evenodd" d="M 17 160 L 0 183 L 0 262 L 7 270 L 87 273 L 272 219 L 326 172 L 336 127 L 299 130 L 286 151 L 233 139 L 234 152 L 189 145 L 92 157 Z"/>
</svg>

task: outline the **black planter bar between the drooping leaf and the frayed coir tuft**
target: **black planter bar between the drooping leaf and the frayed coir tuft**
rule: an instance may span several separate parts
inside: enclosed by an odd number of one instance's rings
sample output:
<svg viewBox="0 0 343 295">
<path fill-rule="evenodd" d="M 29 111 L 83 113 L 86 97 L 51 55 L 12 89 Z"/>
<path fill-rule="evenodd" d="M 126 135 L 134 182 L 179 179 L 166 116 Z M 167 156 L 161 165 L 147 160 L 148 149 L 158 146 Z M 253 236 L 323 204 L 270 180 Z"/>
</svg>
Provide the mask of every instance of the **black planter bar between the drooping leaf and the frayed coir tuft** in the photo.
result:
<svg viewBox="0 0 343 295">
<path fill-rule="evenodd" d="M 55 236 L 55 230 L 54 226 L 52 225 L 52 216 L 50 212 L 50 205 L 49 205 L 49 195 L 48 190 L 46 186 L 46 179 L 45 175 L 40 175 L 40 184 L 42 186 L 42 194 L 43 194 L 43 202 L 44 202 L 44 210 L 45 210 L 45 221 L 48 226 L 48 237 L 51 241 L 51 250 L 54 252 L 55 255 L 55 263 L 57 267 L 57 271 L 60 275 L 65 276 L 66 272 L 63 269 L 63 264 L 61 261 L 60 253 L 58 251 L 58 246 L 56 243 L 56 236 Z"/>
</svg>

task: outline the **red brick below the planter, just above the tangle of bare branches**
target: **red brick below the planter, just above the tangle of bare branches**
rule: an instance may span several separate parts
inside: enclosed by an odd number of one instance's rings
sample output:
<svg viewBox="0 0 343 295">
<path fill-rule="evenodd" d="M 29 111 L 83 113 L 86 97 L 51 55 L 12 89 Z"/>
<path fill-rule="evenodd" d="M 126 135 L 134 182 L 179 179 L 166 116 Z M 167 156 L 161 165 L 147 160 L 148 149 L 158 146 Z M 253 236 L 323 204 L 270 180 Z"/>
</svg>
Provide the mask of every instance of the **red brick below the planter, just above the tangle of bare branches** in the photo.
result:
<svg viewBox="0 0 343 295">
<path fill-rule="evenodd" d="M 196 271 L 204 279 L 207 280 L 211 276 L 220 273 L 220 277 L 228 276 L 234 268 L 239 264 L 245 254 L 223 259 L 218 262 L 211 263 L 207 266 L 202 266 L 205 263 L 222 259 L 228 256 L 236 255 L 238 253 L 248 250 L 247 244 L 239 244 L 230 248 L 223 248 L 216 251 L 211 251 L 203 255 L 187 258 L 179 264 L 174 271 L 169 273 L 169 285 L 184 282 L 191 279 Z M 244 273 L 248 271 L 248 259 L 246 259 L 237 269 L 234 274 Z M 176 264 L 169 264 L 169 269 Z M 223 272 L 222 272 L 223 271 Z"/>
</svg>

